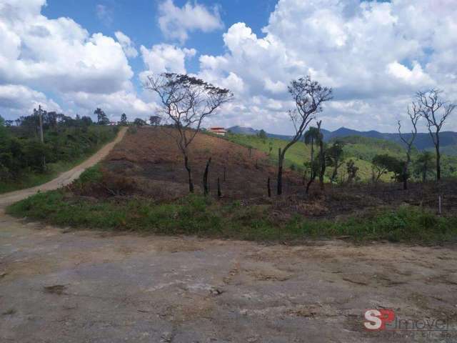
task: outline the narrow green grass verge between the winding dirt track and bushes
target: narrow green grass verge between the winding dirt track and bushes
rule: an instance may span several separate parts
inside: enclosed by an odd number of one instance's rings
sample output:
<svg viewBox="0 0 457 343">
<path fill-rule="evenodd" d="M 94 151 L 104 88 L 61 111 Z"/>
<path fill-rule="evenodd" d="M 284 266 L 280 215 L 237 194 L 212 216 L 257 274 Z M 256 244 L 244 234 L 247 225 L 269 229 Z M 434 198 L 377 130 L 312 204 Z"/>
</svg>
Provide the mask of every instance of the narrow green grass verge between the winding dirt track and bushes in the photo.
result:
<svg viewBox="0 0 457 343">
<path fill-rule="evenodd" d="M 72 158 L 70 160 L 56 161 L 54 163 L 47 164 L 47 170 L 45 173 L 27 171 L 21 173 L 21 177 L 17 180 L 9 180 L 7 182 L 0 181 L 0 194 L 14 192 L 19 189 L 26 189 L 30 187 L 39 186 L 40 184 L 46 184 L 46 182 L 50 182 L 52 179 L 59 176 L 59 174 L 66 172 L 74 168 L 74 166 L 77 166 L 78 164 L 82 163 L 91 155 L 95 154 L 96 151 L 101 149 L 102 146 L 116 138 L 116 134 L 114 133 L 114 131 L 112 131 L 112 128 L 109 126 L 96 126 L 94 127 L 94 129 L 103 130 L 109 132 L 109 134 L 106 134 L 106 138 L 101 140 L 99 144 L 96 144 L 96 146 L 89 149 L 89 151 L 79 154 L 79 156 L 76 158 Z"/>
</svg>

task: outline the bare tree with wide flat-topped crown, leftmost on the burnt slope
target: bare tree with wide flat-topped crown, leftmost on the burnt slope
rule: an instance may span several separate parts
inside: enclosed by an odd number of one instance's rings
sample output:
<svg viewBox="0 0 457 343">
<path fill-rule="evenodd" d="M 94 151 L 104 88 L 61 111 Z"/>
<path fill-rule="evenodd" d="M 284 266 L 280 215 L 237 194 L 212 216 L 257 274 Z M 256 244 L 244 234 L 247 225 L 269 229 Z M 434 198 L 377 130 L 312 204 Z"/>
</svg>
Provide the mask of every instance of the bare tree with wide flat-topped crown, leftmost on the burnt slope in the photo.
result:
<svg viewBox="0 0 457 343">
<path fill-rule="evenodd" d="M 217 113 L 222 104 L 230 101 L 233 94 L 196 77 L 163 73 L 149 76 L 146 88 L 155 91 L 161 101 L 159 116 L 174 124 L 172 135 L 184 156 L 184 167 L 189 176 L 189 192 L 194 192 L 189 145 L 201 129 L 207 116 Z"/>
</svg>

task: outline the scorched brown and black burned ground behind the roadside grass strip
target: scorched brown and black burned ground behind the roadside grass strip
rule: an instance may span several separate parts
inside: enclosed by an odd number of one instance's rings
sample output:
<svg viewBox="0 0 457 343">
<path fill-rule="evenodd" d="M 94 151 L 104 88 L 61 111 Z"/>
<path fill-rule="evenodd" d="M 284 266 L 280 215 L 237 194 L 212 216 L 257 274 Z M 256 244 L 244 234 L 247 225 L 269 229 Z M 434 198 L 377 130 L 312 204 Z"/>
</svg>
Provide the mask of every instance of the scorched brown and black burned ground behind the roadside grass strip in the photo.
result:
<svg viewBox="0 0 457 343">
<path fill-rule="evenodd" d="M 187 173 L 172 129 L 139 128 L 126 135 L 101 166 L 103 186 L 91 185 L 76 190 L 84 197 L 147 197 L 158 202 L 170 202 L 188 194 Z M 325 184 L 321 190 L 314 182 L 309 195 L 305 194 L 303 177 L 287 170 L 284 175 L 284 196 L 267 197 L 267 179 L 271 179 L 271 193 L 276 188 L 276 166 L 273 156 L 261 151 L 233 144 L 209 134 L 197 134 L 190 148 L 196 192 L 202 193 L 206 161 L 209 169 L 210 193 L 217 197 L 217 179 L 221 182 L 221 202 L 239 201 L 243 204 L 270 204 L 273 210 L 290 217 L 335 217 L 363 212 L 379 207 L 398 207 L 402 204 L 438 209 L 451 214 L 457 210 L 457 183 L 411 183 L 408 191 L 401 184 Z"/>
</svg>

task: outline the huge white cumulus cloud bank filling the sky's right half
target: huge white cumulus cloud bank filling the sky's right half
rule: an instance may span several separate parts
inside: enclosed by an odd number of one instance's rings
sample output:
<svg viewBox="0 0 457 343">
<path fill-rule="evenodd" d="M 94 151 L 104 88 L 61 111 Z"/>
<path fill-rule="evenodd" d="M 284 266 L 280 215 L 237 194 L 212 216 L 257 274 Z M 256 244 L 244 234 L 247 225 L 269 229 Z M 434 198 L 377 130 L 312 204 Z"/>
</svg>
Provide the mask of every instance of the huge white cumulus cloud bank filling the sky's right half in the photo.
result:
<svg viewBox="0 0 457 343">
<path fill-rule="evenodd" d="M 309 74 L 333 87 L 334 100 L 320 114 L 326 128 L 395 131 L 416 91 L 437 86 L 457 99 L 452 4 L 279 0 L 263 36 L 233 24 L 224 34 L 226 53 L 200 56 L 199 74 L 219 85 L 231 74 L 243 82 L 243 96 L 232 105 L 238 114 L 226 114 L 237 124 L 291 133 L 284 120 L 293 108 L 287 85 Z M 457 121 L 446 129 L 457 129 Z"/>
</svg>

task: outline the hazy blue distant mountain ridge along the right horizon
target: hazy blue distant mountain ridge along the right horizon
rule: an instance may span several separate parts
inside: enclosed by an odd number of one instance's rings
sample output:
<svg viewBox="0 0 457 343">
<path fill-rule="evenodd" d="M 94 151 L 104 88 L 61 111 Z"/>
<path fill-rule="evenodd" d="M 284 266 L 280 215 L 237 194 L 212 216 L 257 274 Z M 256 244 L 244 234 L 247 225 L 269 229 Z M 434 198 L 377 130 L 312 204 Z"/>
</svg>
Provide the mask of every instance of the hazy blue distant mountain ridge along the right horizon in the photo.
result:
<svg viewBox="0 0 457 343">
<path fill-rule="evenodd" d="M 232 126 L 229 128 L 233 134 L 258 134 L 260 130 L 252 129 L 251 127 L 242 127 L 242 126 Z M 395 141 L 396 143 L 402 144 L 402 141 L 398 134 L 383 134 L 378 131 L 357 131 L 353 129 L 348 129 L 346 127 L 340 127 L 335 131 L 328 131 L 326 129 L 322 130 L 323 132 L 323 139 L 325 141 L 330 141 L 331 139 L 347 137 L 347 136 L 362 136 L 368 138 L 376 138 L 376 139 L 386 139 L 388 141 Z M 277 138 L 277 139 L 291 139 L 291 136 L 281 135 L 281 134 L 266 134 L 268 137 Z M 411 134 L 405 134 L 406 138 L 408 139 Z M 452 131 L 443 131 L 441 132 L 441 146 L 443 148 L 443 152 L 446 154 L 452 154 L 457 156 L 457 132 Z M 433 149 L 433 141 L 431 139 L 430 134 L 428 133 L 420 133 L 416 137 L 416 141 L 414 141 L 414 146 L 418 150 L 430 150 Z"/>
</svg>

